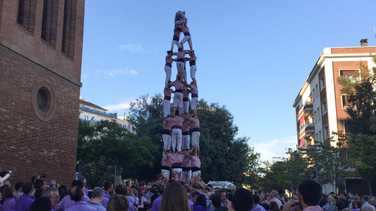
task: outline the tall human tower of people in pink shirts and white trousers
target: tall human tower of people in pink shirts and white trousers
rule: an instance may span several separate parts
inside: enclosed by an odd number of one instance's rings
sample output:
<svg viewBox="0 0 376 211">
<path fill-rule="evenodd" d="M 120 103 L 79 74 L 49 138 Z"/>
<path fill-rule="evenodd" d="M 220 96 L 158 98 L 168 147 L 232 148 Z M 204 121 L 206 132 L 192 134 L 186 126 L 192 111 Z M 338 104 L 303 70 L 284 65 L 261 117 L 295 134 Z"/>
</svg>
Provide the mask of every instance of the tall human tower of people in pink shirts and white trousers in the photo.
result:
<svg viewBox="0 0 376 211">
<path fill-rule="evenodd" d="M 196 106 L 198 102 L 198 89 L 196 81 L 196 55 L 192 48 L 192 40 L 187 26 L 185 12 L 177 11 L 175 15 L 174 36 L 171 50 L 167 51 L 165 72 L 166 80 L 163 99 L 163 158 L 162 176 L 158 181 L 167 183 L 170 179 L 191 184 L 193 180 L 200 180 L 201 162 L 200 154 L 200 121 L 197 116 Z M 180 34 L 184 38 L 179 42 Z M 184 43 L 188 42 L 190 50 L 184 50 Z M 177 45 L 176 53 L 173 52 Z M 188 54 L 190 57 L 185 57 Z M 176 56 L 175 59 L 172 57 Z M 192 82 L 187 83 L 187 73 L 185 63 L 189 61 L 190 76 Z M 172 62 L 176 62 L 176 80 L 171 81 Z M 171 89 L 174 87 L 175 90 Z M 173 98 L 173 115 L 171 112 L 171 93 Z M 191 114 L 189 95 L 191 93 Z M 191 129 L 192 128 L 192 129 Z M 190 137 L 190 131 L 192 131 Z M 191 143 L 192 140 L 192 143 Z M 190 148 L 190 144 L 192 148 Z"/>
</svg>

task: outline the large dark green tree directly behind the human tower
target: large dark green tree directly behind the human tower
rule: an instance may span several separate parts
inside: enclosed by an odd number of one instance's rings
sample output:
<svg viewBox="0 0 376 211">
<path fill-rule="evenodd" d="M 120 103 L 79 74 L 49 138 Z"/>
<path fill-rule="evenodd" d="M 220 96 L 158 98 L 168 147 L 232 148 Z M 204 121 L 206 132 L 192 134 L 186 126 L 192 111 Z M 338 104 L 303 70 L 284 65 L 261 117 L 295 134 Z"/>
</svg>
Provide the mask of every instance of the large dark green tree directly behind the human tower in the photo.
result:
<svg viewBox="0 0 376 211">
<path fill-rule="evenodd" d="M 163 105 L 161 94 L 153 97 L 141 96 L 130 104 L 130 123 L 135 125 L 141 137 L 148 137 L 155 149 L 155 163 L 152 167 L 139 167 L 139 175 L 149 181 L 155 180 L 161 170 Z M 247 145 L 247 138 L 235 138 L 238 128 L 233 124 L 233 116 L 225 106 L 208 104 L 201 99 L 197 104 L 200 119 L 200 160 L 202 178 L 227 180 L 240 185 L 247 181 L 246 173 L 255 168 L 255 152 Z M 138 177 L 139 178 L 139 177 Z"/>
</svg>

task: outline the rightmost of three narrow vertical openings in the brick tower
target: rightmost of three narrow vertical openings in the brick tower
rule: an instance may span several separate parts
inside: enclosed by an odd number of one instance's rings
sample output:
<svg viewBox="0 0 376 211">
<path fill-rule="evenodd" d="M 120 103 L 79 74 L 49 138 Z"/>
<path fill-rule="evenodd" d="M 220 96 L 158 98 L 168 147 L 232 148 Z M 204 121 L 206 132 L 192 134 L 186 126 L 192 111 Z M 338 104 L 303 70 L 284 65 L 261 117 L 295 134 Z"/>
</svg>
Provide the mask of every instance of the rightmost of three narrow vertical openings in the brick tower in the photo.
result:
<svg viewBox="0 0 376 211">
<path fill-rule="evenodd" d="M 61 51 L 72 59 L 76 35 L 76 8 L 77 0 L 65 0 Z"/>
</svg>

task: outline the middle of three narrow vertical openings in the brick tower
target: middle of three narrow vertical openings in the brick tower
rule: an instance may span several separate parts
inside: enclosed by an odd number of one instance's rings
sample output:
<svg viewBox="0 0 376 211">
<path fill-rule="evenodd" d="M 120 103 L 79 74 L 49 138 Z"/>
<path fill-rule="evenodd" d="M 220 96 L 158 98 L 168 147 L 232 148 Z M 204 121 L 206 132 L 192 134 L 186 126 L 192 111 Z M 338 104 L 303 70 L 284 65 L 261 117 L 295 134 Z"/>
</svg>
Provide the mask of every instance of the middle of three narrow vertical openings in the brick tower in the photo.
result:
<svg viewBox="0 0 376 211">
<path fill-rule="evenodd" d="M 41 38 L 53 48 L 56 44 L 56 27 L 58 24 L 59 0 L 43 1 L 43 17 Z"/>
</svg>

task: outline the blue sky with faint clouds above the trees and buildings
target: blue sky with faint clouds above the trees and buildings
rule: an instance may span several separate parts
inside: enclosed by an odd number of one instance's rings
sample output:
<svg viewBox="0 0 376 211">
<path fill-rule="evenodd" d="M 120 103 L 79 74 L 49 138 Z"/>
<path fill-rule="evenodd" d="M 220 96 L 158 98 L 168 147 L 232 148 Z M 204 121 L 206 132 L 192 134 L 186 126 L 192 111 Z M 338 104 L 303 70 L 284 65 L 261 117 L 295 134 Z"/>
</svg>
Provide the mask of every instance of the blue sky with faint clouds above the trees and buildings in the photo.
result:
<svg viewBox="0 0 376 211">
<path fill-rule="evenodd" d="M 376 45 L 371 0 L 183 3 L 86 1 L 83 99 L 120 115 L 162 92 L 174 15 L 186 11 L 200 98 L 226 105 L 238 136 L 268 160 L 297 144 L 292 104 L 323 48 Z"/>
</svg>

